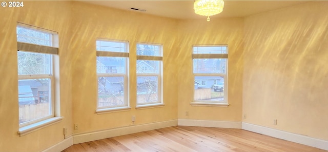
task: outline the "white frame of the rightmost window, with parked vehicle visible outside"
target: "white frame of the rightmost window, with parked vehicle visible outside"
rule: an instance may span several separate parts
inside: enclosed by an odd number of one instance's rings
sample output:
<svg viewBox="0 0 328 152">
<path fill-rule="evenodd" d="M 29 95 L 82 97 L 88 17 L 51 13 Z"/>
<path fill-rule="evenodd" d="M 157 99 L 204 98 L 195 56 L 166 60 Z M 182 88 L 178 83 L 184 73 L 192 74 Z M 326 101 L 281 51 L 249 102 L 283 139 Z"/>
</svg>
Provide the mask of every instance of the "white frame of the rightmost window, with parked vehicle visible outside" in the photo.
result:
<svg viewBox="0 0 328 152">
<path fill-rule="evenodd" d="M 228 107 L 228 45 L 193 45 L 192 51 L 194 47 L 227 47 L 227 53 L 199 53 L 192 54 L 192 102 L 190 103 L 192 106 L 218 106 L 218 107 Z M 226 59 L 226 73 L 194 73 L 194 59 Z M 212 101 L 212 100 L 195 100 L 195 77 L 197 76 L 215 76 L 222 77 L 224 79 L 224 90 L 223 90 L 223 101 Z M 213 82 L 214 83 L 214 82 Z M 202 83 L 199 86 L 203 86 Z"/>
</svg>

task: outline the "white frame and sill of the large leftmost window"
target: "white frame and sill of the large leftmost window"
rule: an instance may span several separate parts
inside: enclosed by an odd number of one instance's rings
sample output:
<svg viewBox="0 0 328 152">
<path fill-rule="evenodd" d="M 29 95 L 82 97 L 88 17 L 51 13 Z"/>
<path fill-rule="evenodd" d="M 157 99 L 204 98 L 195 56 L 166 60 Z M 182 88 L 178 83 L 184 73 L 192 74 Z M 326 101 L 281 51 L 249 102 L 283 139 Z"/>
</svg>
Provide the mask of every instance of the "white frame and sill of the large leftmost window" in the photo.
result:
<svg viewBox="0 0 328 152">
<path fill-rule="evenodd" d="M 23 24 L 17 23 L 17 27 L 25 28 L 28 30 L 34 30 L 37 32 L 50 34 L 51 37 L 49 39 L 50 46 L 37 45 L 32 43 L 20 42 L 17 40 L 17 51 L 24 52 L 33 52 L 33 53 L 41 53 L 41 54 L 50 54 L 51 55 L 51 73 L 50 74 L 18 74 L 19 80 L 32 80 L 32 79 L 50 79 L 50 91 L 49 91 L 49 99 L 51 100 L 51 115 L 47 117 L 42 117 L 38 119 L 34 119 L 28 122 L 20 123 L 19 130 L 17 133 L 19 136 L 24 136 L 29 134 L 32 131 L 37 129 L 49 126 L 51 124 L 55 124 L 63 119 L 60 117 L 60 94 L 59 94 L 59 56 L 58 56 L 58 33 Z M 17 36 L 23 36 L 19 35 Z M 37 39 L 37 38 L 35 38 Z M 18 52 L 17 52 L 18 53 Z M 18 62 L 18 59 L 17 59 Z"/>
</svg>

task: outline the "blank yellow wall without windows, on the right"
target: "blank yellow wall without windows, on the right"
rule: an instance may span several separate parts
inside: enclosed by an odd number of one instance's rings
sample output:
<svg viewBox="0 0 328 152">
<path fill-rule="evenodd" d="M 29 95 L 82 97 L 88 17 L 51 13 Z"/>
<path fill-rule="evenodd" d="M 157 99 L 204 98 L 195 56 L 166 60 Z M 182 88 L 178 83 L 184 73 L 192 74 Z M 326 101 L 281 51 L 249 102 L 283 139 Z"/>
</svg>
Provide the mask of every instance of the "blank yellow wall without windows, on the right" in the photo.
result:
<svg viewBox="0 0 328 152">
<path fill-rule="evenodd" d="M 327 8 L 310 2 L 245 17 L 244 122 L 328 140 Z"/>
</svg>

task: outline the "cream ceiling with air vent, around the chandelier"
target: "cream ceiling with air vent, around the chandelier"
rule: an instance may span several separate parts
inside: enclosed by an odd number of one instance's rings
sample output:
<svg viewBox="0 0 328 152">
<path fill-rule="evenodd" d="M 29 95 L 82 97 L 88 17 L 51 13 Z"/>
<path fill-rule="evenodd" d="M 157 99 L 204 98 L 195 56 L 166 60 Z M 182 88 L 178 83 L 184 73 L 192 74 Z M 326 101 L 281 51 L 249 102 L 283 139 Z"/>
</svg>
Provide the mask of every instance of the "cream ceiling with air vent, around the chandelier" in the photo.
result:
<svg viewBox="0 0 328 152">
<path fill-rule="evenodd" d="M 204 18 L 194 13 L 194 1 L 83 1 L 85 3 L 102 5 L 139 13 L 147 13 L 170 18 Z M 243 17 L 261 12 L 267 12 L 309 1 L 224 1 L 222 13 L 211 16 L 215 17 Z M 146 11 L 131 10 L 138 8 Z"/>
</svg>

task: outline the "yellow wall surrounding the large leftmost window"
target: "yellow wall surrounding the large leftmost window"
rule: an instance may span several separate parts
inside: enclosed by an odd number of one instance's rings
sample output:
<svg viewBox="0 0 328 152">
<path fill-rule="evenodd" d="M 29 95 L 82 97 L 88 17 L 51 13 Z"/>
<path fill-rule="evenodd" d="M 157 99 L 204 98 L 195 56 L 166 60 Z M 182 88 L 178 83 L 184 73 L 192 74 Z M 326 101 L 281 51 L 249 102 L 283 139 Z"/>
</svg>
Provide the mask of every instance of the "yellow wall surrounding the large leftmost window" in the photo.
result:
<svg viewBox="0 0 328 152">
<path fill-rule="evenodd" d="M 67 2 L 24 1 L 23 8 L 0 9 L 0 151 L 40 151 L 64 139 L 63 128 L 72 134 L 71 63 L 69 39 L 70 7 Z M 19 137 L 16 23 L 58 32 L 60 58 L 60 115 L 54 125 Z M 65 34 L 64 34 L 65 33 Z"/>
</svg>

